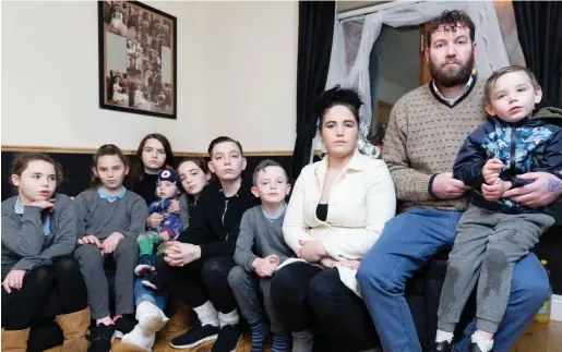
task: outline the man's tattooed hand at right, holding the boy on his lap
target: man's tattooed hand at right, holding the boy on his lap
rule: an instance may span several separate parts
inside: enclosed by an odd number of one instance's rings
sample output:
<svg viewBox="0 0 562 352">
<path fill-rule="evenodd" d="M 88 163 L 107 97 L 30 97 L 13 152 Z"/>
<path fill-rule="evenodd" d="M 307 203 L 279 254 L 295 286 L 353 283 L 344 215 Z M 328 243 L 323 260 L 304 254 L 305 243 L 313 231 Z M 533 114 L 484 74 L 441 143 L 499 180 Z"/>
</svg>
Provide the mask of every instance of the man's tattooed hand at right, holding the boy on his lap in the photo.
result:
<svg viewBox="0 0 562 352">
<path fill-rule="evenodd" d="M 528 172 L 517 178 L 534 182 L 505 192 L 504 198 L 527 207 L 540 208 L 554 203 L 562 195 L 562 181 L 552 173 Z"/>
</svg>

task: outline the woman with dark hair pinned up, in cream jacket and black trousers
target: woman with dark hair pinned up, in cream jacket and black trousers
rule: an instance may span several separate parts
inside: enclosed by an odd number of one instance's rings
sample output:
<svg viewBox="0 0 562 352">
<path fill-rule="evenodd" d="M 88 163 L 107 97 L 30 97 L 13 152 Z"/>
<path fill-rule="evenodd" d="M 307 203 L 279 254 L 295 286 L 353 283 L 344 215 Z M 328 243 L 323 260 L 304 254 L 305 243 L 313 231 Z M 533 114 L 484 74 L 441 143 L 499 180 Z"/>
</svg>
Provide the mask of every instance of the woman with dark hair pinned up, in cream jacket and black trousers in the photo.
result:
<svg viewBox="0 0 562 352">
<path fill-rule="evenodd" d="M 315 114 L 327 155 L 302 169 L 285 215 L 285 242 L 298 258 L 284 263 L 271 288 L 292 331 L 294 352 L 311 352 L 314 333 L 330 341 L 322 351 L 368 350 L 378 343 L 355 275 L 394 217 L 396 195 L 384 161 L 359 150 L 366 147 L 361 104 L 356 92 L 339 86 L 320 96 Z"/>
</svg>

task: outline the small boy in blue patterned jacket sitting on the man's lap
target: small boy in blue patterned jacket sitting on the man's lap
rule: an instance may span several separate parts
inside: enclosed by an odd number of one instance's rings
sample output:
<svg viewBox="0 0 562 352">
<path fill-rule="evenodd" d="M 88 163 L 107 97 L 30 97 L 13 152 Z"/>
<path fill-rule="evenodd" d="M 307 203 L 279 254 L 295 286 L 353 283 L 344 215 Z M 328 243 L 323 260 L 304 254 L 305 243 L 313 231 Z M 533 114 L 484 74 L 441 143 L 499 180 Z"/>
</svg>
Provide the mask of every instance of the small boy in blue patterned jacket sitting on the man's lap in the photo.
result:
<svg viewBox="0 0 562 352">
<path fill-rule="evenodd" d="M 458 221 L 449 257 L 437 351 L 452 351 L 455 325 L 477 282 L 477 331 L 470 352 L 492 350 L 513 267 L 554 223 L 550 209 L 525 207 L 503 194 L 529 182 L 517 178 L 523 173 L 543 171 L 562 179 L 562 129 L 555 124 L 562 110 L 546 108 L 533 116 L 542 92 L 522 66 L 494 72 L 485 89 L 490 118 L 465 141 L 453 168 L 454 178 L 473 187 L 471 205 Z"/>
</svg>

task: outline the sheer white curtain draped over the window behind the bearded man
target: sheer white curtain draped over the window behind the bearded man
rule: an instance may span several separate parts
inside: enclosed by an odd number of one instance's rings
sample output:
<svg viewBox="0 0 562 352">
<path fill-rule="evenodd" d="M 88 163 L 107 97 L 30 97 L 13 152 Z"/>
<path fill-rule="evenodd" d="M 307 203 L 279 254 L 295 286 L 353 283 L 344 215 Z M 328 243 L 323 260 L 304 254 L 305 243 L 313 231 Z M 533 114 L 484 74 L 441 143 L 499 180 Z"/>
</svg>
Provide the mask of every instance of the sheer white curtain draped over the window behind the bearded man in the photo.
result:
<svg viewBox="0 0 562 352">
<path fill-rule="evenodd" d="M 382 24 L 392 27 L 419 25 L 444 10 L 464 10 L 475 23 L 476 68 L 480 75 L 488 76 L 510 64 L 493 1 L 396 1 L 396 5 L 379 12 L 335 21 L 326 89 L 336 84 L 357 89 L 364 102 L 359 111 L 361 122 L 369 125 L 372 117 L 369 54 Z"/>
</svg>

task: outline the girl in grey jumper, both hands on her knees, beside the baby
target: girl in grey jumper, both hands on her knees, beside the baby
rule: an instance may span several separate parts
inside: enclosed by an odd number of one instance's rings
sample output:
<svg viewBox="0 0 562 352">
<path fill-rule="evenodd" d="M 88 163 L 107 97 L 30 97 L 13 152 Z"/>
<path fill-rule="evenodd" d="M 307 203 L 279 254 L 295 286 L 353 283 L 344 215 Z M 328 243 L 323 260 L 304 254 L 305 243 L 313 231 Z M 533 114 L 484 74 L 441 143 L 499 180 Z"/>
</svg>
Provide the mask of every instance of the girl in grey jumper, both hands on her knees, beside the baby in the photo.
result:
<svg viewBox="0 0 562 352">
<path fill-rule="evenodd" d="M 89 351 L 107 352 L 113 337 L 130 332 L 134 320 L 133 270 L 139 256 L 136 236 L 144 231 L 146 203 L 123 186 L 129 165 L 112 144 L 99 147 L 92 166 L 93 189 L 74 199 L 76 207 L 77 248 L 92 317 L 96 320 L 88 340 Z M 116 264 L 116 316 L 110 317 L 105 263 Z"/>
</svg>

